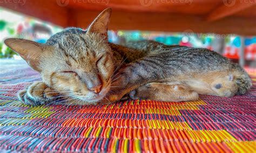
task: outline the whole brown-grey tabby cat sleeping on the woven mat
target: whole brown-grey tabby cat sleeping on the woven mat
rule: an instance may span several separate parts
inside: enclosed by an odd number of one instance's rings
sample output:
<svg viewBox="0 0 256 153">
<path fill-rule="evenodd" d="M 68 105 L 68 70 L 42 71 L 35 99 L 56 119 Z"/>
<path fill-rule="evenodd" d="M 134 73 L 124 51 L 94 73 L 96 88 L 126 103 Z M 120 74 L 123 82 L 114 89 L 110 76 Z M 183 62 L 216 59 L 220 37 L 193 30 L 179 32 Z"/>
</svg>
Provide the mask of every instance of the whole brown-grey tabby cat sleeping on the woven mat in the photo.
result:
<svg viewBox="0 0 256 153">
<path fill-rule="evenodd" d="M 137 41 L 120 46 L 107 41 L 111 9 L 87 30 L 65 29 L 45 44 L 10 38 L 5 44 L 41 73 L 19 92 L 27 105 L 87 105 L 131 99 L 197 100 L 198 94 L 244 94 L 251 79 L 239 65 L 205 48 Z"/>
</svg>

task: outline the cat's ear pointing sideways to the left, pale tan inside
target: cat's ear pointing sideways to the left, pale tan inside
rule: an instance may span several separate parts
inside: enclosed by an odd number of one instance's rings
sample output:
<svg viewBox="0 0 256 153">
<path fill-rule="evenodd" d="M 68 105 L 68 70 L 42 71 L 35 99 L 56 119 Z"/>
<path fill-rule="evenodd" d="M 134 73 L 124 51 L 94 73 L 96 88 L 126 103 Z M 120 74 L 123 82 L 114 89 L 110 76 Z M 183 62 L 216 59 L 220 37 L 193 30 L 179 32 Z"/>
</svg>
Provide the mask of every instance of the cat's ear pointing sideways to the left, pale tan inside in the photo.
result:
<svg viewBox="0 0 256 153">
<path fill-rule="evenodd" d="M 36 71 L 40 72 L 39 61 L 43 53 L 45 44 L 39 44 L 35 41 L 9 38 L 5 39 L 4 43 L 12 50 L 17 52 L 21 57 Z"/>
</svg>

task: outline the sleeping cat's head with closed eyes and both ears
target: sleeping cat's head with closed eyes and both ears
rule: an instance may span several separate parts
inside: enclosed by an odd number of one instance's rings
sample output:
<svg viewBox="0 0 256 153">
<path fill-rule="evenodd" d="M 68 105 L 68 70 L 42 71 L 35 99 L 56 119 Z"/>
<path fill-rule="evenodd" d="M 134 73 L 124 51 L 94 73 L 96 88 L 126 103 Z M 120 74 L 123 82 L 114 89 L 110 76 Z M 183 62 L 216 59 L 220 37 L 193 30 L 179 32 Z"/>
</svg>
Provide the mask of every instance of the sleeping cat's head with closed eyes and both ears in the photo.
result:
<svg viewBox="0 0 256 153">
<path fill-rule="evenodd" d="M 106 9 L 86 31 L 65 29 L 45 44 L 15 38 L 4 42 L 40 72 L 48 86 L 85 104 L 95 103 L 109 92 L 114 69 L 107 41 L 110 16 L 111 9 Z"/>
</svg>

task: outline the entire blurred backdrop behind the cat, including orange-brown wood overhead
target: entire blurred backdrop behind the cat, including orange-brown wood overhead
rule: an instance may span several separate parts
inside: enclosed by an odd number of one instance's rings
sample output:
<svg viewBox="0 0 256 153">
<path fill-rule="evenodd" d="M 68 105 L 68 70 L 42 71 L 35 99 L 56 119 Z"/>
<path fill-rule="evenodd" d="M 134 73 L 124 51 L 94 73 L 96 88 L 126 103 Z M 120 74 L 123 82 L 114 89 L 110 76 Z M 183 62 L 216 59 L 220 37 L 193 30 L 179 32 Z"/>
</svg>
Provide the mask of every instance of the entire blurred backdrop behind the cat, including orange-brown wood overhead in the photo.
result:
<svg viewBox="0 0 256 153">
<path fill-rule="evenodd" d="M 0 0 L 0 59 L 21 60 L 4 45 L 3 40 L 6 38 L 24 38 L 45 43 L 52 34 L 62 31 L 64 27 L 78 26 L 86 29 L 98 12 L 112 6 L 114 17 L 111 18 L 109 30 L 111 43 L 122 45 L 127 41 L 150 39 L 166 45 L 204 47 L 242 66 L 256 67 L 256 16 L 254 10 L 250 11 L 255 6 L 254 1 L 131 2 L 132 5 L 124 7 L 126 1 Z M 127 6 L 131 2 L 127 2 Z M 206 2 L 207 5 L 203 5 Z M 183 12 L 176 7 L 183 9 Z M 239 12 L 240 16 L 233 17 Z M 186 18 L 180 19 L 187 15 L 187 21 Z"/>
</svg>

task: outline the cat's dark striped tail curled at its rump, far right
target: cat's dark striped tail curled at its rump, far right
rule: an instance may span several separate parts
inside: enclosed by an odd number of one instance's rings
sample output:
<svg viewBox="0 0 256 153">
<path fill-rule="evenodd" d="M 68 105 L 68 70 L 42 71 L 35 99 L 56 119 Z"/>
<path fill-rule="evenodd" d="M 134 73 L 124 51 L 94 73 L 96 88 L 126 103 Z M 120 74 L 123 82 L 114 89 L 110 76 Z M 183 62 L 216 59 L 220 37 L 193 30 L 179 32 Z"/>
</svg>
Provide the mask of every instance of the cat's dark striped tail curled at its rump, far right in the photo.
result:
<svg viewBox="0 0 256 153">
<path fill-rule="evenodd" d="M 252 87 L 252 80 L 248 73 L 238 64 L 234 64 L 233 66 L 235 72 L 239 74 L 234 78 L 235 83 L 238 85 L 237 95 L 245 94 Z"/>
</svg>

